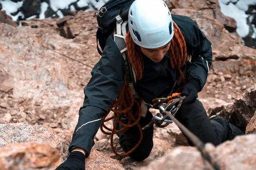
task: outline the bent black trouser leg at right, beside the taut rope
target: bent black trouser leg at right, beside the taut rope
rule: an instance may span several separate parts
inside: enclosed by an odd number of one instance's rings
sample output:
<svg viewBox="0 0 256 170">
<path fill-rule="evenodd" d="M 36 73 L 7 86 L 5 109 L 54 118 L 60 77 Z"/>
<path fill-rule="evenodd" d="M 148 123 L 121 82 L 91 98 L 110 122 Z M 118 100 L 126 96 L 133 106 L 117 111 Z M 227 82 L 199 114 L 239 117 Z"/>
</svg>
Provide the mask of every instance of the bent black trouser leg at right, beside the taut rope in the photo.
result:
<svg viewBox="0 0 256 170">
<path fill-rule="evenodd" d="M 210 121 L 202 103 L 198 100 L 182 105 L 176 118 L 204 143 L 211 142 L 218 145 L 227 140 L 230 130 L 228 121 L 220 116 Z M 191 141 L 189 144 L 193 145 Z"/>
</svg>

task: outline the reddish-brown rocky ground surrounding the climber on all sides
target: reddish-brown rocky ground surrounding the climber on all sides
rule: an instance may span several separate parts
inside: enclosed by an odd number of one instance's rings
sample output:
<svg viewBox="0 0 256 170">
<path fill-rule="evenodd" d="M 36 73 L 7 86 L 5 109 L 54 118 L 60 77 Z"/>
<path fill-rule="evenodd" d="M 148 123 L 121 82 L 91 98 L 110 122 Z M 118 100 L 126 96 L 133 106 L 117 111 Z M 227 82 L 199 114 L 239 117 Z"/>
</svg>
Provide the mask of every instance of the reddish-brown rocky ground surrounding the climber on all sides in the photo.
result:
<svg viewBox="0 0 256 170">
<path fill-rule="evenodd" d="M 217 0 L 167 4 L 172 14 L 191 17 L 212 42 L 214 62 L 199 93 L 208 114 L 222 115 L 247 133 L 207 149 L 226 170 L 255 170 L 256 50 L 242 45 L 235 20 L 221 14 Z M 63 18 L 22 21 L 18 27 L 1 13 L 1 170 L 53 170 L 66 158 L 83 88 L 100 58 L 93 15 L 79 11 Z M 134 162 L 118 159 L 109 136 L 98 132 L 86 169 L 211 170 L 175 124 L 155 128 L 154 136 L 151 155 Z M 120 150 L 118 138 L 114 143 Z"/>
</svg>

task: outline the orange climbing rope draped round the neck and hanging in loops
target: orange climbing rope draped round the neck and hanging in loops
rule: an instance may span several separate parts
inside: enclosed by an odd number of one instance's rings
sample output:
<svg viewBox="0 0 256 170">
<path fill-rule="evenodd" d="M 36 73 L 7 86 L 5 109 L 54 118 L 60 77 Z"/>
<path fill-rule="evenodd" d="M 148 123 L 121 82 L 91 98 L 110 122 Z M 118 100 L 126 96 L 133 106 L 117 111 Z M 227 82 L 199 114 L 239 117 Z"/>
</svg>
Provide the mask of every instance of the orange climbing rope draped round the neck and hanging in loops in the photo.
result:
<svg viewBox="0 0 256 170">
<path fill-rule="evenodd" d="M 171 40 L 171 45 L 169 48 L 169 59 L 170 59 L 170 65 L 172 69 L 177 69 L 179 71 L 179 75 L 182 77 L 183 83 L 185 81 L 185 76 L 182 73 L 182 66 L 186 63 L 188 60 L 187 57 L 187 48 L 185 39 L 179 30 L 177 24 L 173 21 L 174 24 L 174 37 Z M 128 57 L 131 62 L 131 65 L 134 69 L 136 80 L 140 80 L 142 78 L 142 72 L 144 70 L 144 62 L 142 57 L 142 52 L 139 48 L 137 48 L 136 44 L 134 43 L 130 32 L 126 35 L 126 47 L 128 52 Z M 113 102 L 111 109 L 109 110 L 108 114 L 102 118 L 102 123 L 100 126 L 100 130 L 106 134 L 111 136 L 111 148 L 113 152 L 120 157 L 124 157 L 132 153 L 136 148 L 138 148 L 141 140 L 142 140 L 142 128 L 138 124 L 138 121 L 140 119 L 140 108 L 141 99 L 134 98 L 132 91 L 129 87 L 129 85 L 124 84 L 121 92 L 118 95 L 118 98 Z M 132 111 L 133 105 L 136 104 L 138 109 L 135 113 Z M 107 118 L 109 113 L 113 111 L 114 114 L 110 118 Z M 128 118 L 128 123 L 124 124 L 119 120 L 120 114 L 124 114 L 125 117 Z M 114 119 L 114 125 L 113 129 L 108 128 L 104 123 L 106 121 L 109 121 L 111 119 Z M 117 125 L 121 125 L 121 129 L 117 129 Z M 114 144 L 113 144 L 113 137 L 115 134 L 118 134 L 119 132 L 126 131 L 128 128 L 133 126 L 138 126 L 138 130 L 140 132 L 140 138 L 138 140 L 138 143 L 127 153 L 118 153 L 115 150 Z M 104 129 L 103 129 L 104 128 Z M 105 131 L 107 130 L 107 131 Z"/>
</svg>

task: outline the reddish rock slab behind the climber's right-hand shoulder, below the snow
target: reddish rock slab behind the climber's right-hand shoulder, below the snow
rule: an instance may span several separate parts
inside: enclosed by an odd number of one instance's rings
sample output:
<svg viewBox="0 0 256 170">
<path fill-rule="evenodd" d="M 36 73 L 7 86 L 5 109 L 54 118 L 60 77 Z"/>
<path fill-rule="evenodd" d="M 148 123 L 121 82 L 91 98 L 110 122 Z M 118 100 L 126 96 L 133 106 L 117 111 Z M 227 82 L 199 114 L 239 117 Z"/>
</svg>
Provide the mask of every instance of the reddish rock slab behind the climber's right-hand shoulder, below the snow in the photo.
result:
<svg viewBox="0 0 256 170">
<path fill-rule="evenodd" d="M 242 39 L 236 33 L 230 33 L 224 23 L 213 17 L 213 13 L 196 9 L 173 9 L 172 14 L 191 17 L 212 42 L 215 60 L 238 58 L 240 55 L 255 54 L 255 49 L 242 45 Z"/>
</svg>

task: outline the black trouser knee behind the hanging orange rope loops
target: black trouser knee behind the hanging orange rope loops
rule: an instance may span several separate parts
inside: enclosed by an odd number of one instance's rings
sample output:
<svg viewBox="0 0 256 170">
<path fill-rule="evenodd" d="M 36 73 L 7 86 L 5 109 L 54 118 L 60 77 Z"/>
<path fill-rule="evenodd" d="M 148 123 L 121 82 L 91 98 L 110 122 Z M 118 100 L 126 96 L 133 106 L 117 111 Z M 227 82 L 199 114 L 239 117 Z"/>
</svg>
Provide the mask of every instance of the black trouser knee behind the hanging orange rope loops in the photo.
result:
<svg viewBox="0 0 256 170">
<path fill-rule="evenodd" d="M 152 113 L 147 112 L 146 117 L 141 117 L 138 123 L 141 127 L 144 127 L 152 120 L 152 117 Z M 138 148 L 130 154 L 135 161 L 142 161 L 151 153 L 153 148 L 153 131 L 153 126 L 143 131 L 141 143 L 139 144 Z M 138 143 L 140 137 L 138 126 L 131 127 L 126 132 L 119 133 L 118 136 L 122 149 L 124 152 L 128 152 Z"/>
</svg>

